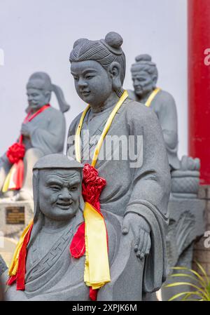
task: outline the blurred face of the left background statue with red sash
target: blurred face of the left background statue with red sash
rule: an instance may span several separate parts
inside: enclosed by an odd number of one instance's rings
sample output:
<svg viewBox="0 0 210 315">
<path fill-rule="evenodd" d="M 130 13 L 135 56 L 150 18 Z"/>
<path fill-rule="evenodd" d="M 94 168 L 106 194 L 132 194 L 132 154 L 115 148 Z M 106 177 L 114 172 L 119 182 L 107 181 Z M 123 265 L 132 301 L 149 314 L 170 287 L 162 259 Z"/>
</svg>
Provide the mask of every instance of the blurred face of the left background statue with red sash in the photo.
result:
<svg viewBox="0 0 210 315">
<path fill-rule="evenodd" d="M 28 103 L 31 110 L 38 110 L 50 101 L 50 92 L 27 88 Z"/>
</svg>

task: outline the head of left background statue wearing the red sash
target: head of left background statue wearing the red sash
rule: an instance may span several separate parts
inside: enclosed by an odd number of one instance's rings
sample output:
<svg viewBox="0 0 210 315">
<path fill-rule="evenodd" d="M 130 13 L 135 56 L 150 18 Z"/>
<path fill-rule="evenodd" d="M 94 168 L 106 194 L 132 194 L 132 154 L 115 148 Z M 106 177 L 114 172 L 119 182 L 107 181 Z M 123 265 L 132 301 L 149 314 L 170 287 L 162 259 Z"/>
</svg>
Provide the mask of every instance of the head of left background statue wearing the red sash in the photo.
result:
<svg viewBox="0 0 210 315">
<path fill-rule="evenodd" d="M 27 83 L 27 97 L 29 108 L 38 110 L 50 102 L 52 83 L 45 72 L 35 72 Z"/>
</svg>

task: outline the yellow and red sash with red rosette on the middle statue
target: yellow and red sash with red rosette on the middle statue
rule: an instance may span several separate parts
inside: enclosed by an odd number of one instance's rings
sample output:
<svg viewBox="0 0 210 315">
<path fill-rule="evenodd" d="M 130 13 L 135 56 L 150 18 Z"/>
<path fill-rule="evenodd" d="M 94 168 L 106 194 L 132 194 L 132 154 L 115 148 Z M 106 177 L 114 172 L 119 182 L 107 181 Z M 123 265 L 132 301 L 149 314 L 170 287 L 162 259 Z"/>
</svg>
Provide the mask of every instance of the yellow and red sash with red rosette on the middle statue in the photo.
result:
<svg viewBox="0 0 210 315">
<path fill-rule="evenodd" d="M 85 164 L 83 168 L 83 198 L 85 201 L 84 219 L 85 222 L 80 225 L 70 246 L 70 252 L 73 257 L 79 258 L 85 253 L 85 273 L 84 281 L 90 286 L 90 298 L 97 299 L 97 289 L 102 288 L 104 284 L 111 281 L 109 270 L 108 255 L 108 236 L 104 217 L 100 211 L 99 197 L 102 189 L 106 185 L 106 180 L 98 176 L 98 171 L 94 168 L 99 151 L 106 134 L 109 131 L 111 123 L 120 109 L 123 102 L 128 97 L 127 91 L 123 93 L 120 100 L 111 112 L 106 121 L 102 135 L 94 149 L 91 166 Z M 75 135 L 76 160 L 80 162 L 80 131 L 83 126 L 83 120 L 87 114 L 90 105 L 83 112 Z"/>
</svg>

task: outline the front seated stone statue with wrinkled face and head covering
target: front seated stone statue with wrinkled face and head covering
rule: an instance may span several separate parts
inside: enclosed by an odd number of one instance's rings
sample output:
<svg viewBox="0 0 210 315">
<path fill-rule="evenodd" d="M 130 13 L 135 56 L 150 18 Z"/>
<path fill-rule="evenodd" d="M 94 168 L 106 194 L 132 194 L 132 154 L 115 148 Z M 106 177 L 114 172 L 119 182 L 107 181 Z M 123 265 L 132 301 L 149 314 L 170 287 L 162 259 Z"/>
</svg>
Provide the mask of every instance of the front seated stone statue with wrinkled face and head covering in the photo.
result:
<svg viewBox="0 0 210 315">
<path fill-rule="evenodd" d="M 34 226 L 27 246 L 25 290 L 15 284 L 6 290 L 5 300 L 89 300 L 84 283 L 85 256 L 75 259 L 69 245 L 83 222 L 81 195 L 83 165 L 63 154 L 50 154 L 34 166 Z M 102 210 L 109 236 L 111 282 L 99 290 L 97 300 L 141 300 L 142 286 L 159 285 L 162 261 L 155 274 L 144 270 L 144 260 L 135 255 L 132 230 L 123 235 L 123 217 Z M 151 229 L 155 216 L 151 214 Z M 161 231 L 151 232 L 152 243 Z M 153 259 L 162 260 L 162 247 L 154 248 Z M 147 257 L 150 264 L 150 257 Z M 152 279 L 150 278 L 152 275 Z M 1 280 L 5 283 L 6 272 Z M 160 280 L 161 279 L 161 280 Z M 158 283 L 156 283 L 158 281 Z"/>
</svg>

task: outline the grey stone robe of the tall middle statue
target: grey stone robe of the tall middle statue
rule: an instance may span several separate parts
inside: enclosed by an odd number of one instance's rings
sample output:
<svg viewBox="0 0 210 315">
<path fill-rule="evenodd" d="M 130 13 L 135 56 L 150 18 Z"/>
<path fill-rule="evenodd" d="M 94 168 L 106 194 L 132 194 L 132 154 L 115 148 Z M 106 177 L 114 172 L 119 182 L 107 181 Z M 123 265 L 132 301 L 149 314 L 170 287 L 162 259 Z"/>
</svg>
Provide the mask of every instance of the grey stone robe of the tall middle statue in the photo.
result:
<svg viewBox="0 0 210 315">
<path fill-rule="evenodd" d="M 91 163 L 91 159 L 83 159 L 85 149 L 89 149 L 92 154 L 95 148 L 95 144 L 83 147 L 83 130 L 89 130 L 90 138 L 100 135 L 112 109 L 97 114 L 90 111 L 86 115 L 81 132 L 82 163 Z M 80 116 L 81 114 L 73 120 L 69 128 L 67 155 L 70 156 L 73 156 L 74 144 L 71 140 L 76 133 Z M 127 99 L 113 119 L 107 135 L 123 135 L 127 139 L 130 135 L 141 135 L 143 139 L 142 166 L 131 168 L 130 159 L 101 159 L 95 167 L 99 176 L 106 179 L 106 187 L 100 197 L 102 209 L 120 216 L 130 212 L 137 213 L 150 224 L 152 246 L 146 257 L 143 290 L 153 292 L 162 286 L 167 274 L 165 228 L 168 223 L 167 204 L 171 189 L 169 162 L 160 123 L 153 110 Z M 118 146 L 114 146 L 114 149 L 118 150 Z"/>
</svg>

